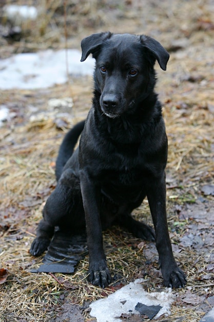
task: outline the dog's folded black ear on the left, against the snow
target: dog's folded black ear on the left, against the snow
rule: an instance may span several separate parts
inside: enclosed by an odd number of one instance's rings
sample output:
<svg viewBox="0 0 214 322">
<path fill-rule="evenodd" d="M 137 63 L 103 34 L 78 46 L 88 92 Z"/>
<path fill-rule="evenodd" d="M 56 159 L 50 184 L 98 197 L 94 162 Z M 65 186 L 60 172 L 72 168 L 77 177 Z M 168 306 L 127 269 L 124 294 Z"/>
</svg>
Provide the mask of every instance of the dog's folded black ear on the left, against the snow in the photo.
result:
<svg viewBox="0 0 214 322">
<path fill-rule="evenodd" d="M 94 53 L 97 52 L 101 46 L 104 40 L 109 39 L 111 37 L 111 32 L 100 32 L 100 33 L 93 33 L 89 37 L 86 37 L 81 42 L 81 48 L 82 48 L 82 58 L 81 62 L 86 60 L 88 55 L 92 53 L 94 57 Z"/>
</svg>

